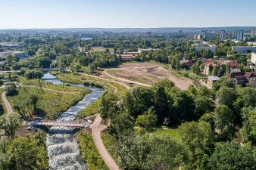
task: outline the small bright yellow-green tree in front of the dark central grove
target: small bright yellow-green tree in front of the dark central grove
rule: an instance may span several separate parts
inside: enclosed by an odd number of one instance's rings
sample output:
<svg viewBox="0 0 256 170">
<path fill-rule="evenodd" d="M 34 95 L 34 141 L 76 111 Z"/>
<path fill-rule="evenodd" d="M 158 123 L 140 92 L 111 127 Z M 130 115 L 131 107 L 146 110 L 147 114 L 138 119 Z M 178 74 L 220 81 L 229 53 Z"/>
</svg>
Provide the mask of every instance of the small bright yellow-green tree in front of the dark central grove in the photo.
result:
<svg viewBox="0 0 256 170">
<path fill-rule="evenodd" d="M 145 128 L 146 131 L 151 132 L 153 128 L 157 125 L 158 119 L 155 115 L 155 112 L 152 109 L 149 109 L 143 115 L 139 115 L 136 119 L 136 123 Z"/>
</svg>

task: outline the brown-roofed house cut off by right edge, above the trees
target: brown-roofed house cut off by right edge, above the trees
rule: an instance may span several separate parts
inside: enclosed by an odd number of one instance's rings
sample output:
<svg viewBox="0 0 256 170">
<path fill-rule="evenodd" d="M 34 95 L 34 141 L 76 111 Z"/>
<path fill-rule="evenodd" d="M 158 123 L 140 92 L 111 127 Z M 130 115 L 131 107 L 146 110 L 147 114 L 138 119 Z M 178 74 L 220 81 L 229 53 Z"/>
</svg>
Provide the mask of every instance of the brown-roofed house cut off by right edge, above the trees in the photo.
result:
<svg viewBox="0 0 256 170">
<path fill-rule="evenodd" d="M 256 72 L 233 72 L 229 73 L 228 78 L 232 80 L 235 86 L 245 86 L 245 83 L 250 83 L 256 88 Z"/>
</svg>

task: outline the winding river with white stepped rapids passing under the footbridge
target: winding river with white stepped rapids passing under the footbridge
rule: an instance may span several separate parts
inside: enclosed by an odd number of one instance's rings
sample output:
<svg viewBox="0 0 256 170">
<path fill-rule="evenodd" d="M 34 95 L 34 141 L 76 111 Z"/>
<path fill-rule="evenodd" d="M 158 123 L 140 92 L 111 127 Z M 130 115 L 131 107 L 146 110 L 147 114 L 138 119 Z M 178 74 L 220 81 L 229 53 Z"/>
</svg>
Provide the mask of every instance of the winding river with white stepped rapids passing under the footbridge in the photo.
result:
<svg viewBox="0 0 256 170">
<path fill-rule="evenodd" d="M 50 73 L 45 73 L 42 79 L 55 78 Z M 66 84 L 58 79 L 45 80 L 45 82 L 52 82 L 56 85 Z M 84 87 L 84 85 L 72 84 L 74 86 Z M 98 97 L 101 96 L 103 89 L 95 88 L 93 86 L 86 86 L 92 90 L 92 92 L 83 100 L 80 100 L 75 106 L 70 107 L 64 113 L 71 113 L 77 115 L 90 104 L 95 102 Z M 62 115 L 57 121 L 59 122 L 72 122 L 76 116 Z M 76 141 L 73 138 L 73 128 L 64 126 L 55 126 L 50 128 L 47 134 L 46 145 L 49 156 L 50 169 L 86 169 L 86 165 L 83 163 L 80 157 L 80 150 Z"/>
</svg>

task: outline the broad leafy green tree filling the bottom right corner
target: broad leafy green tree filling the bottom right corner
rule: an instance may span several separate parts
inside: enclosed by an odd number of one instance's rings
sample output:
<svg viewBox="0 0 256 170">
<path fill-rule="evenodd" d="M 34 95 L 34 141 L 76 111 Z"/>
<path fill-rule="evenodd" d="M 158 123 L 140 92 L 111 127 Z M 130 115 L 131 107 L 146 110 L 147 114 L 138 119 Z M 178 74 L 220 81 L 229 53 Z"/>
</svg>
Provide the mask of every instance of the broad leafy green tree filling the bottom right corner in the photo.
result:
<svg viewBox="0 0 256 170">
<path fill-rule="evenodd" d="M 217 144 L 208 163 L 209 169 L 255 169 L 256 159 L 251 147 L 240 147 L 235 141 Z"/>
</svg>

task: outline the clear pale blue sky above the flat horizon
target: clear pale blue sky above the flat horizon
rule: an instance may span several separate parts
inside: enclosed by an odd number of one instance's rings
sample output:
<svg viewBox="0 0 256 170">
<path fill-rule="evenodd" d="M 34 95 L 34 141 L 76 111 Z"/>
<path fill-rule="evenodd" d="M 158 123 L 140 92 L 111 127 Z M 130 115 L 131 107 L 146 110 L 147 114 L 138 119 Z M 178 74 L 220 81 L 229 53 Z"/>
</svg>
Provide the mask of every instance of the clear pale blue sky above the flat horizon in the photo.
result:
<svg viewBox="0 0 256 170">
<path fill-rule="evenodd" d="M 0 29 L 256 26 L 256 0 L 0 0 Z"/>
</svg>

